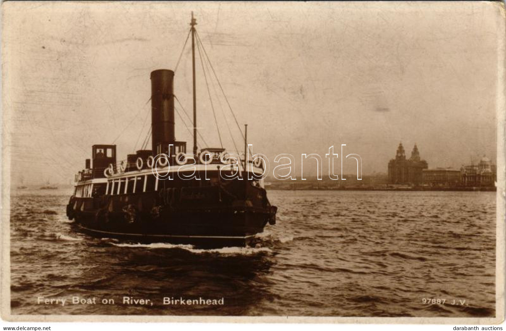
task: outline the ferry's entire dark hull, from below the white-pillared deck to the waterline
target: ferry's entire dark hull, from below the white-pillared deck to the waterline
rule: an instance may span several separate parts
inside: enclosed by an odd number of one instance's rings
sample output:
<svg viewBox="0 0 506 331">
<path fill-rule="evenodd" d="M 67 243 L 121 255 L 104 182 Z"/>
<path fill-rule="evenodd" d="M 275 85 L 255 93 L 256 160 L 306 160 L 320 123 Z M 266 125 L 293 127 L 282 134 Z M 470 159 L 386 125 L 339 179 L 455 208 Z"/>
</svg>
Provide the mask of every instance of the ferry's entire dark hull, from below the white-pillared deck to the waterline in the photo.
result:
<svg viewBox="0 0 506 331">
<path fill-rule="evenodd" d="M 94 236 L 215 247 L 248 244 L 275 224 L 276 211 L 265 189 L 238 180 L 166 181 L 151 192 L 72 196 L 67 204 L 67 217 Z"/>
</svg>

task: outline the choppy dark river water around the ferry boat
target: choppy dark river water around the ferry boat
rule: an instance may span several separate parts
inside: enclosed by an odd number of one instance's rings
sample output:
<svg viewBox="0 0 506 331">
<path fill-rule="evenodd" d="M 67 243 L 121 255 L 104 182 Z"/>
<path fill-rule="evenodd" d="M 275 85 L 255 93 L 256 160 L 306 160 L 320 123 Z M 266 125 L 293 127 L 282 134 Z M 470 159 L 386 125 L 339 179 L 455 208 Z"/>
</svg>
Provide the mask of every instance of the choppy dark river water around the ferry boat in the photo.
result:
<svg viewBox="0 0 506 331">
<path fill-rule="evenodd" d="M 269 191 L 277 224 L 218 250 L 89 237 L 69 194 L 11 196 L 12 314 L 495 315 L 495 192 Z"/>
</svg>

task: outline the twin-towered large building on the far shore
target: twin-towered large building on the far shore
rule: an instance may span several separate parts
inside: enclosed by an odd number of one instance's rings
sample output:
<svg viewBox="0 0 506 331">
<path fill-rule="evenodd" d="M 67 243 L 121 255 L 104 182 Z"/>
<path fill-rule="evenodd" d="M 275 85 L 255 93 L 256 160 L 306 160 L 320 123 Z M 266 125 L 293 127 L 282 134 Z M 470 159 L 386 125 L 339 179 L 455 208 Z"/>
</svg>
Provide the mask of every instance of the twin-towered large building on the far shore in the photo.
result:
<svg viewBox="0 0 506 331">
<path fill-rule="evenodd" d="M 397 147 L 395 159 L 388 162 L 388 182 L 390 184 L 420 185 L 422 172 L 428 168 L 426 160 L 420 158 L 420 152 L 416 144 L 411 151 L 411 157 L 406 159 L 402 143 Z"/>
</svg>

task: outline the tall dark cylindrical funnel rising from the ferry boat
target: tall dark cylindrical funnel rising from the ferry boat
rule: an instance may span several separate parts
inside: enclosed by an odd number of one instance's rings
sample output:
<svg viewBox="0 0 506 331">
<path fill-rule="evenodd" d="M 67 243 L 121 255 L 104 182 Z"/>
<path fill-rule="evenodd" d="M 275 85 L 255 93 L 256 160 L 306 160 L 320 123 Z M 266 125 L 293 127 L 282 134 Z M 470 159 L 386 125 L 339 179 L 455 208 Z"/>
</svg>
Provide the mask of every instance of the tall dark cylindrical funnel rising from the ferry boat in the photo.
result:
<svg viewBox="0 0 506 331">
<path fill-rule="evenodd" d="M 153 154 L 168 151 L 176 141 L 174 129 L 174 71 L 151 72 L 151 126 Z"/>
</svg>

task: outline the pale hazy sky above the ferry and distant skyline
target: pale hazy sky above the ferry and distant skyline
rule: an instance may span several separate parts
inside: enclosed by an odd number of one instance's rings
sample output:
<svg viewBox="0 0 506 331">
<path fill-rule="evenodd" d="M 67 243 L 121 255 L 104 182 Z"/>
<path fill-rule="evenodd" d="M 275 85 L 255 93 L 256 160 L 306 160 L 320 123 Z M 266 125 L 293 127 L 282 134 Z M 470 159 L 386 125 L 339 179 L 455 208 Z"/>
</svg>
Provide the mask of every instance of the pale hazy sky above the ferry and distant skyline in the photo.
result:
<svg viewBox="0 0 506 331">
<path fill-rule="evenodd" d="M 498 4 L 7 2 L 3 9 L 14 181 L 23 174 L 25 183 L 69 183 L 93 144 L 114 142 L 119 159 L 139 149 L 150 125 L 150 72 L 175 68 L 191 11 L 254 152 L 271 160 L 293 154 L 297 175 L 301 153 L 324 157 L 341 144 L 361 155 L 365 174 L 386 173 L 401 141 L 408 157 L 416 143 L 429 168 L 496 157 Z M 219 146 L 198 59 L 197 69 L 198 127 Z M 191 86 L 187 45 L 175 94 L 188 111 Z M 213 102 L 224 147 L 234 149 L 227 120 L 242 149 L 226 102 Z M 191 150 L 176 118 L 176 138 Z"/>
</svg>

